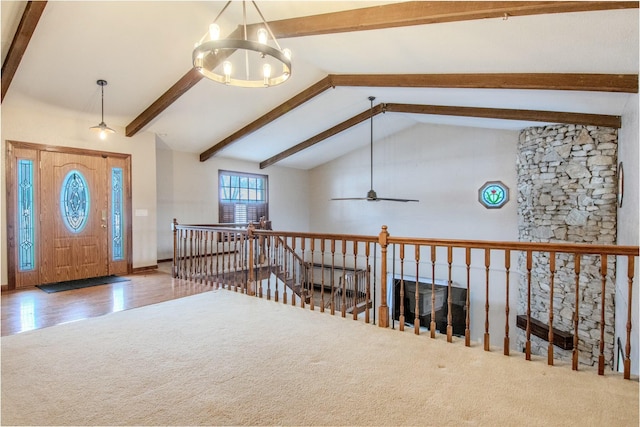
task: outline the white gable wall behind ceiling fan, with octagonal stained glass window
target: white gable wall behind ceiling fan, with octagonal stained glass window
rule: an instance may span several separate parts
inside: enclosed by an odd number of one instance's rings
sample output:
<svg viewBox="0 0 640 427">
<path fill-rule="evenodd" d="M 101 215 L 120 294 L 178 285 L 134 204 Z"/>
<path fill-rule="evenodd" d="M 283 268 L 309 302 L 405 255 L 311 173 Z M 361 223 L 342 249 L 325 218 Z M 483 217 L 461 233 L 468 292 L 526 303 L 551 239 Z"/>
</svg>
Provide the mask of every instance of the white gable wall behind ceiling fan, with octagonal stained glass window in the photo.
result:
<svg viewBox="0 0 640 427">
<path fill-rule="evenodd" d="M 419 199 L 419 203 L 329 201 L 332 197 L 366 195 L 369 189 L 367 147 L 311 171 L 310 188 L 314 195 L 310 228 L 318 232 L 377 235 L 384 224 L 393 236 L 515 241 L 518 239 L 517 141 L 517 131 L 414 126 L 374 143 L 373 186 L 378 197 Z M 510 188 L 511 199 L 502 209 L 486 209 L 478 202 L 478 189 L 485 182 L 496 180 Z M 410 252 L 406 255 L 405 274 L 413 276 L 413 250 Z M 425 258 L 423 254 L 422 278 L 431 276 L 430 259 Z M 491 258 L 491 341 L 492 345 L 502 345 L 506 298 L 504 286 L 496 284 L 505 281 L 504 256 L 495 253 Z M 444 251 L 438 251 L 437 260 L 436 278 L 446 279 Z M 453 269 L 453 281 L 466 286 L 463 251 L 454 251 L 454 264 L 457 265 Z M 517 265 L 515 258 L 511 265 Z M 514 343 L 518 286 L 515 267 L 510 281 L 510 336 Z M 378 304 L 380 282 L 377 278 Z M 477 251 L 472 254 L 471 283 L 472 339 L 480 341 L 484 334 L 486 293 L 484 254 Z"/>
</svg>

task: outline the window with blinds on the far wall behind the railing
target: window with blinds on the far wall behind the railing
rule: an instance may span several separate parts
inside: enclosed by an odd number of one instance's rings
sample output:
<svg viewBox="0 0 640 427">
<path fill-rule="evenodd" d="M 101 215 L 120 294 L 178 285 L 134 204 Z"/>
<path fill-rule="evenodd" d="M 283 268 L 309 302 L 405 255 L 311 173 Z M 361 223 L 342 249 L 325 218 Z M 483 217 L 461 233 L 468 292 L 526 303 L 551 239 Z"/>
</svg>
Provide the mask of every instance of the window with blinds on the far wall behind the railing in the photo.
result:
<svg viewBox="0 0 640 427">
<path fill-rule="evenodd" d="M 218 171 L 220 223 L 258 222 L 269 218 L 267 175 Z"/>
</svg>

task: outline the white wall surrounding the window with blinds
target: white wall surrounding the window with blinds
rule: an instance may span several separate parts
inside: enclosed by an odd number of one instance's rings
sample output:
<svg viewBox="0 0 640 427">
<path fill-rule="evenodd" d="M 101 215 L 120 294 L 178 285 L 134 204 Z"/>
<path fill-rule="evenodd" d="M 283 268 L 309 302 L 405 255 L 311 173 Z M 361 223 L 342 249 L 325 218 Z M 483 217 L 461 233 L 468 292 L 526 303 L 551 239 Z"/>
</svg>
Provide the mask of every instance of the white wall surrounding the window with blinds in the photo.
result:
<svg viewBox="0 0 640 427">
<path fill-rule="evenodd" d="M 169 151 L 157 142 L 158 259 L 173 256 L 173 218 L 181 224 L 218 223 L 218 170 L 269 177 L 269 219 L 277 230 L 309 231 L 308 172 Z"/>
</svg>

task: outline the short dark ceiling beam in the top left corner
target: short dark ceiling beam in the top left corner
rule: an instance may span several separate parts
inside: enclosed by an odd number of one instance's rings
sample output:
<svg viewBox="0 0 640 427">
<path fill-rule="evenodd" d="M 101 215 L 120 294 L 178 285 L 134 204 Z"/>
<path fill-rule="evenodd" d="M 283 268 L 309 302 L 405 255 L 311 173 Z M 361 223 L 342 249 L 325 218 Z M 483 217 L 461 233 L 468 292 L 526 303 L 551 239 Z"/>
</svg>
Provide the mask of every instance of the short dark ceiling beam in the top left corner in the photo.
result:
<svg viewBox="0 0 640 427">
<path fill-rule="evenodd" d="M 7 56 L 2 63 L 2 82 L 0 83 L 2 85 L 2 90 L 0 91 L 0 103 L 4 100 L 4 96 L 6 95 L 7 90 L 9 90 L 9 86 L 11 86 L 13 76 L 18 70 L 20 61 L 22 61 L 22 56 L 27 50 L 27 46 L 29 46 L 31 36 L 38 26 L 38 21 L 40 21 L 40 17 L 42 16 L 42 12 L 46 5 L 46 1 L 27 2 L 24 12 L 22 13 L 22 18 L 20 19 L 18 29 L 11 41 L 11 46 L 7 52 Z"/>
</svg>

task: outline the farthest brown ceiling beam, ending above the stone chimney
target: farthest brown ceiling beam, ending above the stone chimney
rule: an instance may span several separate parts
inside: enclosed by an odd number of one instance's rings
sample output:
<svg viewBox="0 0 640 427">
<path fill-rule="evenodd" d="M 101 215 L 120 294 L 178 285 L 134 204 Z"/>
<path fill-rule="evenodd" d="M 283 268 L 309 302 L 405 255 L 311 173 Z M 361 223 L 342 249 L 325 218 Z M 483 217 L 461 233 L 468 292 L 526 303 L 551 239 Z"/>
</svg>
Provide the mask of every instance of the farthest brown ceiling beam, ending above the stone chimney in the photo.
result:
<svg viewBox="0 0 640 427">
<path fill-rule="evenodd" d="M 568 123 L 587 126 L 605 126 L 620 128 L 620 116 L 609 116 L 604 114 L 567 113 L 562 111 L 538 111 L 538 110 L 510 110 L 504 108 L 477 108 L 477 107 L 454 107 L 443 105 L 419 105 L 419 104 L 378 104 L 374 107 L 373 113 L 370 110 L 364 111 L 357 116 L 346 120 L 331 129 L 312 136 L 273 157 L 260 162 L 260 169 L 271 166 L 281 160 L 286 159 L 302 150 L 305 150 L 325 139 L 332 137 L 351 126 L 354 126 L 369 117 L 382 112 L 392 113 L 413 113 L 413 114 L 434 114 L 441 116 L 459 117 L 479 117 L 501 120 L 522 120 L 532 122 Z"/>
</svg>

